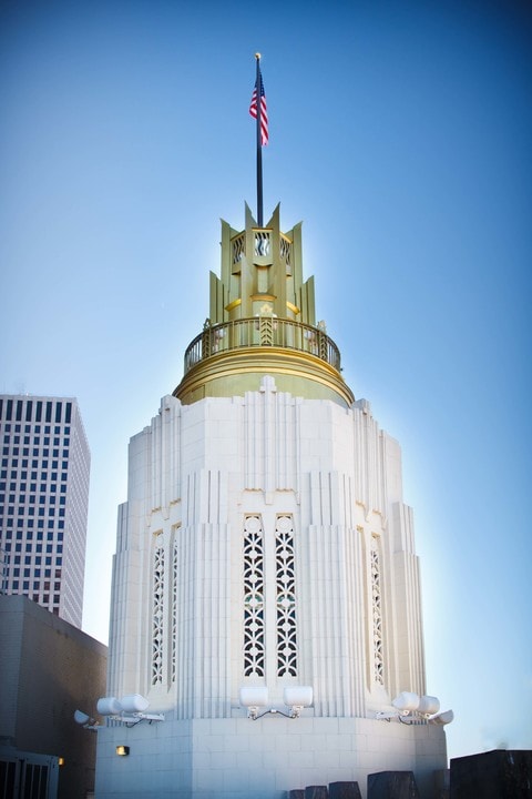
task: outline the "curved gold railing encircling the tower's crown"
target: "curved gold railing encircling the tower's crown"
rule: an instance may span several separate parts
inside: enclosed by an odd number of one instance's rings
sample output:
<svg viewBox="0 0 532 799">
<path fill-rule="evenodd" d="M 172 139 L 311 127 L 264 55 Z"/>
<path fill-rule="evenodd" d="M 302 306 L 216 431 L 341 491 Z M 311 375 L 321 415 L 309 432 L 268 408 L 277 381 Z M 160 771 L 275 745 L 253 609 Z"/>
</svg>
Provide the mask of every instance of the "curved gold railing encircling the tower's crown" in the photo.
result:
<svg viewBox="0 0 532 799">
<path fill-rule="evenodd" d="M 315 355 L 340 371 L 340 352 L 320 328 L 275 316 L 234 320 L 211 325 L 205 322 L 185 352 L 185 374 L 201 361 L 218 353 L 247 347 L 283 347 Z"/>
</svg>

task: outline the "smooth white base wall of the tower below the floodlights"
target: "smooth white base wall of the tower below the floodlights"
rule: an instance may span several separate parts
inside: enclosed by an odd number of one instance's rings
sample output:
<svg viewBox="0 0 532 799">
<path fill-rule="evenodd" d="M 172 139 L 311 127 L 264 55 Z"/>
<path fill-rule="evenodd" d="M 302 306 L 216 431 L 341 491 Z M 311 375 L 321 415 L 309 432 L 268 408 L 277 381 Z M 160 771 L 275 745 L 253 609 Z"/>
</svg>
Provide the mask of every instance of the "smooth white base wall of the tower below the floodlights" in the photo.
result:
<svg viewBox="0 0 532 799">
<path fill-rule="evenodd" d="M 117 757 L 116 746 L 130 747 Z M 285 799 L 309 785 L 410 770 L 423 799 L 433 772 L 444 768 L 446 737 L 438 726 L 355 718 L 173 720 L 99 732 L 96 799 Z"/>
</svg>

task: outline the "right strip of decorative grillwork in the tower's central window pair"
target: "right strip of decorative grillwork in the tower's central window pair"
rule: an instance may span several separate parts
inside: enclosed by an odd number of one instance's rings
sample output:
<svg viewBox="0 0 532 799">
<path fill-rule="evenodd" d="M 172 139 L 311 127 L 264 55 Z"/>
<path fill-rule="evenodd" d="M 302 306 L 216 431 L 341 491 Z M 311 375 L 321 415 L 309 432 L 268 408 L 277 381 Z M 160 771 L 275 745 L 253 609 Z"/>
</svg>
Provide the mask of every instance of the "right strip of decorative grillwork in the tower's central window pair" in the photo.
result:
<svg viewBox="0 0 532 799">
<path fill-rule="evenodd" d="M 294 524 L 278 516 L 275 529 L 277 589 L 277 676 L 297 677 Z"/>
</svg>

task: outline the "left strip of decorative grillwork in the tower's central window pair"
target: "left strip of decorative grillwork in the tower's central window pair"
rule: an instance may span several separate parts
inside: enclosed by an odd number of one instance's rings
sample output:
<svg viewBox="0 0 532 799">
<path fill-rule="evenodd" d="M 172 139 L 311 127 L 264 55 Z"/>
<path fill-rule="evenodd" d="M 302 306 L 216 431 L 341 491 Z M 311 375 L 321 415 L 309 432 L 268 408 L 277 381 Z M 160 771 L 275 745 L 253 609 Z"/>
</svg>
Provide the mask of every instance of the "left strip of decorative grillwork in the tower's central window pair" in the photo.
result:
<svg viewBox="0 0 532 799">
<path fill-rule="evenodd" d="M 265 675 L 264 534 L 259 516 L 244 524 L 244 676 Z"/>
</svg>

